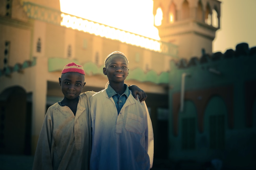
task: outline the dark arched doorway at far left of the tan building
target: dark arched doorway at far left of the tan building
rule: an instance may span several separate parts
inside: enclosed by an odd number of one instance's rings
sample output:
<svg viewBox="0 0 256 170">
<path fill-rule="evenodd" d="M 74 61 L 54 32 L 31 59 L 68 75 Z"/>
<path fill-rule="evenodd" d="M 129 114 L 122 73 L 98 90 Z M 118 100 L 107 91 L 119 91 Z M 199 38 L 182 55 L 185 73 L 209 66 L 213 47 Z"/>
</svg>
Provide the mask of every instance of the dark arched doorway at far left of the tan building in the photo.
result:
<svg viewBox="0 0 256 170">
<path fill-rule="evenodd" d="M 31 108 L 29 110 L 30 116 L 23 88 L 10 87 L 0 94 L 1 154 L 30 154 Z"/>
</svg>

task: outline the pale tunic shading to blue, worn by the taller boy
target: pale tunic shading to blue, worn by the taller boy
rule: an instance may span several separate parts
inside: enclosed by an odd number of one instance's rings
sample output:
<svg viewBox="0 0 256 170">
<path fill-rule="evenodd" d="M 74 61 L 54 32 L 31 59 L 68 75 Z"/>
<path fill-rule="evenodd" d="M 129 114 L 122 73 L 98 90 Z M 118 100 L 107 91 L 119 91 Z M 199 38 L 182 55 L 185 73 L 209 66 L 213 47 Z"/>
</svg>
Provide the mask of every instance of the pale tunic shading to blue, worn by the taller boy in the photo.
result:
<svg viewBox="0 0 256 170">
<path fill-rule="evenodd" d="M 92 152 L 90 169 L 141 170 L 153 165 L 154 138 L 145 102 L 132 93 L 117 114 L 106 90 L 91 97 Z"/>
</svg>

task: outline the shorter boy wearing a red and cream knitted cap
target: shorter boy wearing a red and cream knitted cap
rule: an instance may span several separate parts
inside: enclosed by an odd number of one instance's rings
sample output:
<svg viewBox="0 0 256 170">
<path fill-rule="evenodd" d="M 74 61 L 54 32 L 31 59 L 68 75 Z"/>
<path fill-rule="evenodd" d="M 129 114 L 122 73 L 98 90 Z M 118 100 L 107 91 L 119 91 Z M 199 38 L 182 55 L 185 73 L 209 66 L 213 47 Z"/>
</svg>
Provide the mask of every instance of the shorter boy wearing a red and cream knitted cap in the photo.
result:
<svg viewBox="0 0 256 170">
<path fill-rule="evenodd" d="M 33 169 L 89 169 L 91 151 L 90 97 L 83 67 L 67 64 L 59 78 L 62 101 L 50 106 L 39 135 Z M 139 91 L 138 89 L 135 91 Z"/>
</svg>

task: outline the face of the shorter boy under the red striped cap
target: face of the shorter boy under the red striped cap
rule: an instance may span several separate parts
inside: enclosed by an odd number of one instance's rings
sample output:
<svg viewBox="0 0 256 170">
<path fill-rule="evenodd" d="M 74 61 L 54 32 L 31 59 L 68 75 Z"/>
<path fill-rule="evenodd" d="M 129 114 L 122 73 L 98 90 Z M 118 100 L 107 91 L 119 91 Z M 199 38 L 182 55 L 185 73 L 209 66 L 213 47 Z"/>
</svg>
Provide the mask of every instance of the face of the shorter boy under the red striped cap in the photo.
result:
<svg viewBox="0 0 256 170">
<path fill-rule="evenodd" d="M 84 75 L 77 72 L 68 72 L 61 74 L 59 78 L 61 91 L 63 95 L 69 99 L 77 98 L 85 85 Z"/>
</svg>

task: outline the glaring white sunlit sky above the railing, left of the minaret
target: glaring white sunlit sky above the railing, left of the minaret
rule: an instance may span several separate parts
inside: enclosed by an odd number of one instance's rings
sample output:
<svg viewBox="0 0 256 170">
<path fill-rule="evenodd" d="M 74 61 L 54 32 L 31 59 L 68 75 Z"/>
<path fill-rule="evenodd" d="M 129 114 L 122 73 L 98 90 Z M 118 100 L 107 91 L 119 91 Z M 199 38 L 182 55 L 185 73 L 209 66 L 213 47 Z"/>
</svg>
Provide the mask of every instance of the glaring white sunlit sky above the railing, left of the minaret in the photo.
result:
<svg viewBox="0 0 256 170">
<path fill-rule="evenodd" d="M 110 27 L 160 40 L 158 30 L 154 27 L 153 0 L 60 0 L 60 10 Z"/>
</svg>

